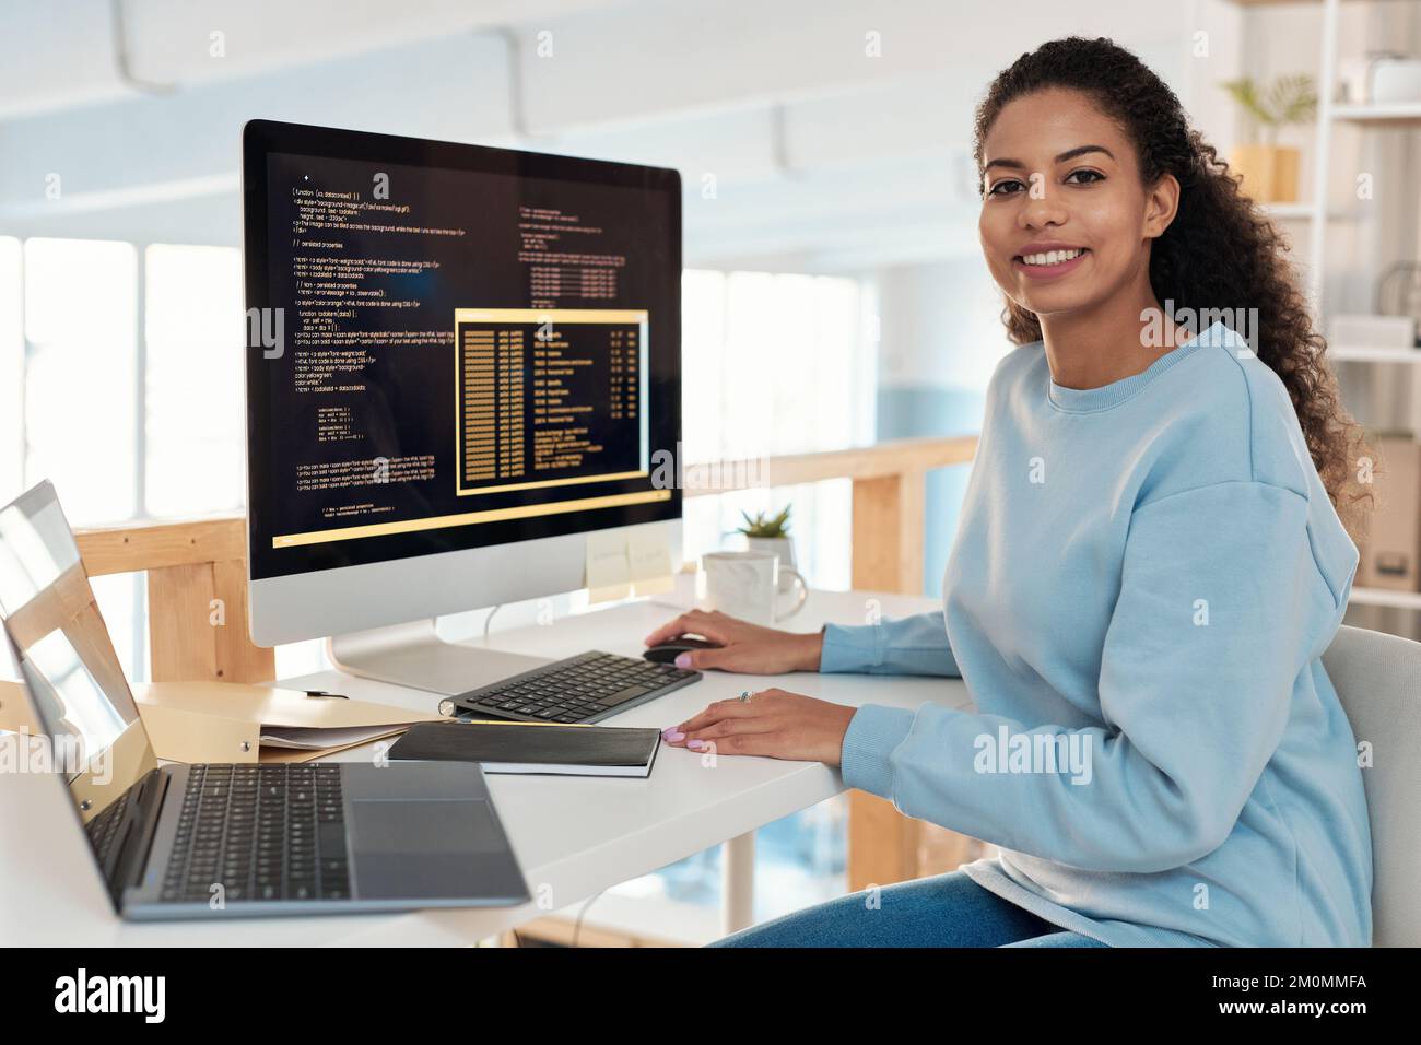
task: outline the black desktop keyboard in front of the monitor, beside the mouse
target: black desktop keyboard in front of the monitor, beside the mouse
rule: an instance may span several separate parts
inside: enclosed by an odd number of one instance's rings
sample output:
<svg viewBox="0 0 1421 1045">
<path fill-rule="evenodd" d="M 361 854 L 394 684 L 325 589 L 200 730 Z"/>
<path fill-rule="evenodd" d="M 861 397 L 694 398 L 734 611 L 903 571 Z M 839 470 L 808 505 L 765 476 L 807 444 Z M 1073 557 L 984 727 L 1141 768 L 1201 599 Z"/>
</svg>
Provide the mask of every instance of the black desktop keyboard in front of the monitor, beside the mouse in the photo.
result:
<svg viewBox="0 0 1421 1045">
<path fill-rule="evenodd" d="M 699 678 L 699 671 L 593 650 L 459 694 L 439 709 L 459 718 L 600 722 Z"/>
</svg>

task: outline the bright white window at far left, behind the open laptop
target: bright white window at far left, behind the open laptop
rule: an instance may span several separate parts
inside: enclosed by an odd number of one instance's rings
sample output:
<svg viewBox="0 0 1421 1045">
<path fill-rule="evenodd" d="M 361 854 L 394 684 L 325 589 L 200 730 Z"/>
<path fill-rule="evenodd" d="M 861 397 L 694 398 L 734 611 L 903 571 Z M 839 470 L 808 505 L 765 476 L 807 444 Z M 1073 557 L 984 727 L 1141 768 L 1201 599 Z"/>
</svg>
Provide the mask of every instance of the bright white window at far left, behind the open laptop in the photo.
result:
<svg viewBox="0 0 1421 1045">
<path fill-rule="evenodd" d="M 0 237 L 0 499 L 50 479 L 75 527 L 242 508 L 240 256 L 155 245 L 138 264 L 131 243 Z M 144 586 L 94 594 L 145 678 Z"/>
</svg>

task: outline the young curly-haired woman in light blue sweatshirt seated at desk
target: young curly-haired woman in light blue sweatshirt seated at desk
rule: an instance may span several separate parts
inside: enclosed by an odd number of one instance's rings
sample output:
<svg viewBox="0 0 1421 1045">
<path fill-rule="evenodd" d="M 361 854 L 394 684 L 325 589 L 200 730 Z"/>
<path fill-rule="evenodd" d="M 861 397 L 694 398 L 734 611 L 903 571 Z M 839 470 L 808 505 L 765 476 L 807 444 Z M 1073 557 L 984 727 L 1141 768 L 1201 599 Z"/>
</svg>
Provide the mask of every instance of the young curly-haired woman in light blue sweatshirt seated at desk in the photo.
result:
<svg viewBox="0 0 1421 1045">
<path fill-rule="evenodd" d="M 961 677 L 975 711 L 764 690 L 666 741 L 838 765 L 1002 852 L 723 943 L 1370 944 L 1356 741 L 1320 660 L 1366 446 L 1277 233 L 1108 40 L 1002 73 L 976 161 L 1017 348 L 944 610 L 811 636 L 688 613 L 647 641 L 720 643 L 696 668 Z"/>
</svg>

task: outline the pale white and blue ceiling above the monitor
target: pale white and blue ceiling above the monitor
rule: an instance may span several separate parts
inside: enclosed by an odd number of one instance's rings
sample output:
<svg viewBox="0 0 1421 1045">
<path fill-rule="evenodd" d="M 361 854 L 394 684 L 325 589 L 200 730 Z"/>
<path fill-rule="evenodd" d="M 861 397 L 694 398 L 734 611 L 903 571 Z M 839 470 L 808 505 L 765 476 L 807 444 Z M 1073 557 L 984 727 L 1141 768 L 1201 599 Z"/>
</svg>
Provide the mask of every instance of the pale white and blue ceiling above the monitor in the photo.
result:
<svg viewBox="0 0 1421 1045">
<path fill-rule="evenodd" d="M 240 128 L 263 117 L 675 166 L 689 264 L 959 257 L 972 108 L 998 70 L 1110 36 L 1188 105 L 1241 61 L 1239 17 L 1218 0 L 0 0 L 0 235 L 236 243 Z"/>
</svg>

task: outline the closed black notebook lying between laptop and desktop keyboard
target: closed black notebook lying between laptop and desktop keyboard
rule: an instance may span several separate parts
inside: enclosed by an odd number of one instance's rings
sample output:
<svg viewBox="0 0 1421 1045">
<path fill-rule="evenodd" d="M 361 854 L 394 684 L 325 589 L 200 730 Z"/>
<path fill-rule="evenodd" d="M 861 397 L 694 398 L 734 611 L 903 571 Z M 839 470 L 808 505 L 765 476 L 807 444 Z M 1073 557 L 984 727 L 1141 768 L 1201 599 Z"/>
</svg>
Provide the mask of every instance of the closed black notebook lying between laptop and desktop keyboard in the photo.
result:
<svg viewBox="0 0 1421 1045">
<path fill-rule="evenodd" d="M 416 722 L 389 749 L 408 762 L 482 762 L 487 773 L 651 776 L 659 729 L 537 722 Z"/>
</svg>

